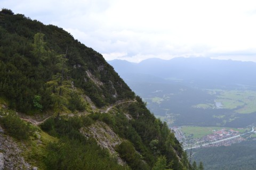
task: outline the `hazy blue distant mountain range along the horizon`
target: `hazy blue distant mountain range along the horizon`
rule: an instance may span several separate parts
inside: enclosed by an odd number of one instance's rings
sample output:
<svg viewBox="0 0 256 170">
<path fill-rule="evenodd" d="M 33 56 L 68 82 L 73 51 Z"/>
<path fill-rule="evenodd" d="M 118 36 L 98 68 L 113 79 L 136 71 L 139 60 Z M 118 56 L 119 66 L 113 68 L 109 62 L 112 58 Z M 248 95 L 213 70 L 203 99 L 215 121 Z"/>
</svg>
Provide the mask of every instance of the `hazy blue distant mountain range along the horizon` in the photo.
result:
<svg viewBox="0 0 256 170">
<path fill-rule="evenodd" d="M 179 57 L 172 60 L 150 58 L 140 63 L 122 60 L 109 63 L 125 81 L 128 80 L 127 83 L 132 77 L 133 82 L 178 82 L 200 88 L 256 87 L 254 62 Z"/>
</svg>

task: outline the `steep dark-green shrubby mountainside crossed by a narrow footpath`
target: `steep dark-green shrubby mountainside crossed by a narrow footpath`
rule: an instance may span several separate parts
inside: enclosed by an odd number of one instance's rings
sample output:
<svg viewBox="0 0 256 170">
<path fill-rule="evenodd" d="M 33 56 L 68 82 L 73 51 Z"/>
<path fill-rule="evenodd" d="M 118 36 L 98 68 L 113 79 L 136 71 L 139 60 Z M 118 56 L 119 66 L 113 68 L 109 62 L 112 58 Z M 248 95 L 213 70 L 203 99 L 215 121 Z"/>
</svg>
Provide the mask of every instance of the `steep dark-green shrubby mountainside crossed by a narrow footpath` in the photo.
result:
<svg viewBox="0 0 256 170">
<path fill-rule="evenodd" d="M 189 168 L 166 123 L 101 54 L 61 28 L 5 8 L 0 115 L 5 169 Z"/>
</svg>

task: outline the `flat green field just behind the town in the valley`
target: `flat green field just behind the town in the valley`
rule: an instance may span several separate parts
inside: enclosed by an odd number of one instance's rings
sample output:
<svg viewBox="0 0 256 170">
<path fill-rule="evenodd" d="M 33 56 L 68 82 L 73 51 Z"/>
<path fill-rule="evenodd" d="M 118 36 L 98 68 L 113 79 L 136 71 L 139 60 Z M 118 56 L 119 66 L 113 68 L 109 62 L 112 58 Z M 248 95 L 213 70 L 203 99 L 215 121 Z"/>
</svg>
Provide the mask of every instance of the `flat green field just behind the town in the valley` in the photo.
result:
<svg viewBox="0 0 256 170">
<path fill-rule="evenodd" d="M 244 133 L 246 131 L 250 131 L 250 129 L 244 129 L 244 128 L 223 128 L 223 127 L 200 127 L 200 126 L 182 126 L 181 131 L 186 135 L 186 137 L 191 138 L 202 138 L 205 135 L 212 134 L 214 131 L 218 131 L 221 129 L 226 130 L 234 130 L 238 131 L 239 133 Z"/>
</svg>

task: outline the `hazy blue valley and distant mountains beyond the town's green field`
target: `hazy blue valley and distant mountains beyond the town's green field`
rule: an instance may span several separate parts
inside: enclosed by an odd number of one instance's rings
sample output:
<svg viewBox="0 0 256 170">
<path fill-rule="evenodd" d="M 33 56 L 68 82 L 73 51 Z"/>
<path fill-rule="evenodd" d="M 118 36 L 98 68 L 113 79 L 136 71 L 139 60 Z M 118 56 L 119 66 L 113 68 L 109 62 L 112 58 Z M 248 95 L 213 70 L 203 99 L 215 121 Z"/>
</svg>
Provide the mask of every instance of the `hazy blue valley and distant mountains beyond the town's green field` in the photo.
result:
<svg viewBox="0 0 256 170">
<path fill-rule="evenodd" d="M 170 125 L 252 124 L 256 63 L 209 58 L 109 62 L 129 86 Z"/>
</svg>

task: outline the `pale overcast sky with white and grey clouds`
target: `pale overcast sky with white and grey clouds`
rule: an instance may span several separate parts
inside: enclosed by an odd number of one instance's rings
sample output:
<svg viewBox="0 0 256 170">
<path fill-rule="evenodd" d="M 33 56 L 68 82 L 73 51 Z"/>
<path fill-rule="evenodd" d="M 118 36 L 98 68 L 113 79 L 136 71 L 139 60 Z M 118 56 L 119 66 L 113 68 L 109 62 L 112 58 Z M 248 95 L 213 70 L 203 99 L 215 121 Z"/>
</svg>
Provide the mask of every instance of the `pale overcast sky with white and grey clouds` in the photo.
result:
<svg viewBox="0 0 256 170">
<path fill-rule="evenodd" d="M 106 60 L 256 62 L 256 1 L 0 0 L 0 7 L 58 25 Z"/>
</svg>

